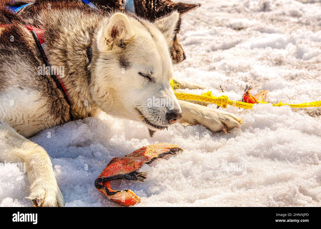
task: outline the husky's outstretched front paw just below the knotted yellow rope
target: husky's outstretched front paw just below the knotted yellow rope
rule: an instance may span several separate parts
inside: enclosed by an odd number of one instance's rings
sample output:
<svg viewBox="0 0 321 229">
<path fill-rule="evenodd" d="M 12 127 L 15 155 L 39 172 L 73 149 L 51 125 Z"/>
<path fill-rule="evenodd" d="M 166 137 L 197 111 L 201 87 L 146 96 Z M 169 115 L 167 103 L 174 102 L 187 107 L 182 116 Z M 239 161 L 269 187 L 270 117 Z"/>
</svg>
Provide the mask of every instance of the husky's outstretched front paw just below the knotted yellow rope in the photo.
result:
<svg viewBox="0 0 321 229">
<path fill-rule="evenodd" d="M 223 131 L 227 134 L 234 128 L 240 128 L 242 124 L 242 119 L 226 111 L 204 107 L 201 113 L 202 115 L 195 118 L 195 122 L 210 129 L 213 133 Z"/>
</svg>

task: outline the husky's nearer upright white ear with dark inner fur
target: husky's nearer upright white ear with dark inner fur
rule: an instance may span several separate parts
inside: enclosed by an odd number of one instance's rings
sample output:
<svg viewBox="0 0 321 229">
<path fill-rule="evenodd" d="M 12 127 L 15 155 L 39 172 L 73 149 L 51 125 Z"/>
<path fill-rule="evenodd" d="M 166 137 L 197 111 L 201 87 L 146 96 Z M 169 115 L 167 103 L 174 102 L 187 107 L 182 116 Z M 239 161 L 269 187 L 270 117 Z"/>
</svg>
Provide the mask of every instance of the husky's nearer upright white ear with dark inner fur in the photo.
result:
<svg viewBox="0 0 321 229">
<path fill-rule="evenodd" d="M 98 50 L 100 52 L 120 51 L 126 48 L 134 36 L 128 17 L 124 13 L 115 13 L 99 32 Z"/>
</svg>

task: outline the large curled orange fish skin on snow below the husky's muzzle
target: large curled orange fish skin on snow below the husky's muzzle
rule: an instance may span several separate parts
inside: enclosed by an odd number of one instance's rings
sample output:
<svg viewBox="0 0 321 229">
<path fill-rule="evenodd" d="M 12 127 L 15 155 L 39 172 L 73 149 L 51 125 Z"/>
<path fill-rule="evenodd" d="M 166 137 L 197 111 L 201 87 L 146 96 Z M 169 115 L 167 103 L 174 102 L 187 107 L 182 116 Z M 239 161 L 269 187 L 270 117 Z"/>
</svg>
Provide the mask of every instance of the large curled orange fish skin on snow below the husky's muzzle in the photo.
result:
<svg viewBox="0 0 321 229">
<path fill-rule="evenodd" d="M 144 172 L 136 172 L 137 169 L 145 163 L 152 163 L 153 160 L 166 154 L 175 155 L 179 151 L 183 151 L 183 149 L 177 145 L 158 143 L 144 146 L 124 157 L 114 157 L 97 177 L 95 187 L 102 194 L 122 206 L 129 207 L 140 203 L 140 198 L 130 189 L 111 189 L 110 181 L 118 179 L 143 181 L 147 175 Z"/>
</svg>

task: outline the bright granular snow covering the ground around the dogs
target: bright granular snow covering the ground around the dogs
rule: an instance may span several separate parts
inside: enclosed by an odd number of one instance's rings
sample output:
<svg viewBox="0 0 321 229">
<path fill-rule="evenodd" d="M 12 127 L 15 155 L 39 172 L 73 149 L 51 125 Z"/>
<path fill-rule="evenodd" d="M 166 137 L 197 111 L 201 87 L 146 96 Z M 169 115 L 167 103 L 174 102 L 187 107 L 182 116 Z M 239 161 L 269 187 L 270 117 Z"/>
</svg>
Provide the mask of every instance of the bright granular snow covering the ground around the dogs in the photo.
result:
<svg viewBox="0 0 321 229">
<path fill-rule="evenodd" d="M 183 16 L 179 39 L 187 59 L 174 66 L 175 77 L 231 100 L 240 99 L 246 84 L 253 93 L 269 89 L 272 103 L 320 100 L 320 1 L 197 2 L 202 6 Z M 225 135 L 174 125 L 151 138 L 143 124 L 101 113 L 31 140 L 50 155 L 66 207 L 118 206 L 95 189 L 94 180 L 113 157 L 157 142 L 185 151 L 144 165 L 145 182 L 112 182 L 113 189 L 130 188 L 141 197 L 135 207 L 320 207 L 321 109 L 258 104 L 225 110 L 244 118 L 241 130 Z M 12 165 L 0 163 L 0 206 L 31 206 L 24 199 L 27 177 Z"/>
</svg>

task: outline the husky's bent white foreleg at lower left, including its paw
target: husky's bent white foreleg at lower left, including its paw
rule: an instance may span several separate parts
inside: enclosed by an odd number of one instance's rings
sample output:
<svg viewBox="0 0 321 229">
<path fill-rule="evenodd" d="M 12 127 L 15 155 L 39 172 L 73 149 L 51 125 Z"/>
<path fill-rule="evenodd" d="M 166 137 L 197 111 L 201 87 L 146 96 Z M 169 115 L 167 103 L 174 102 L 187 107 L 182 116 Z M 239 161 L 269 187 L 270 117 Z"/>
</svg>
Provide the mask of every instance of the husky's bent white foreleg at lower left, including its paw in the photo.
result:
<svg viewBox="0 0 321 229">
<path fill-rule="evenodd" d="M 24 162 L 30 182 L 29 199 L 42 206 L 64 206 L 47 152 L 36 143 L 19 135 L 13 128 L 0 124 L 0 161 Z"/>
</svg>

